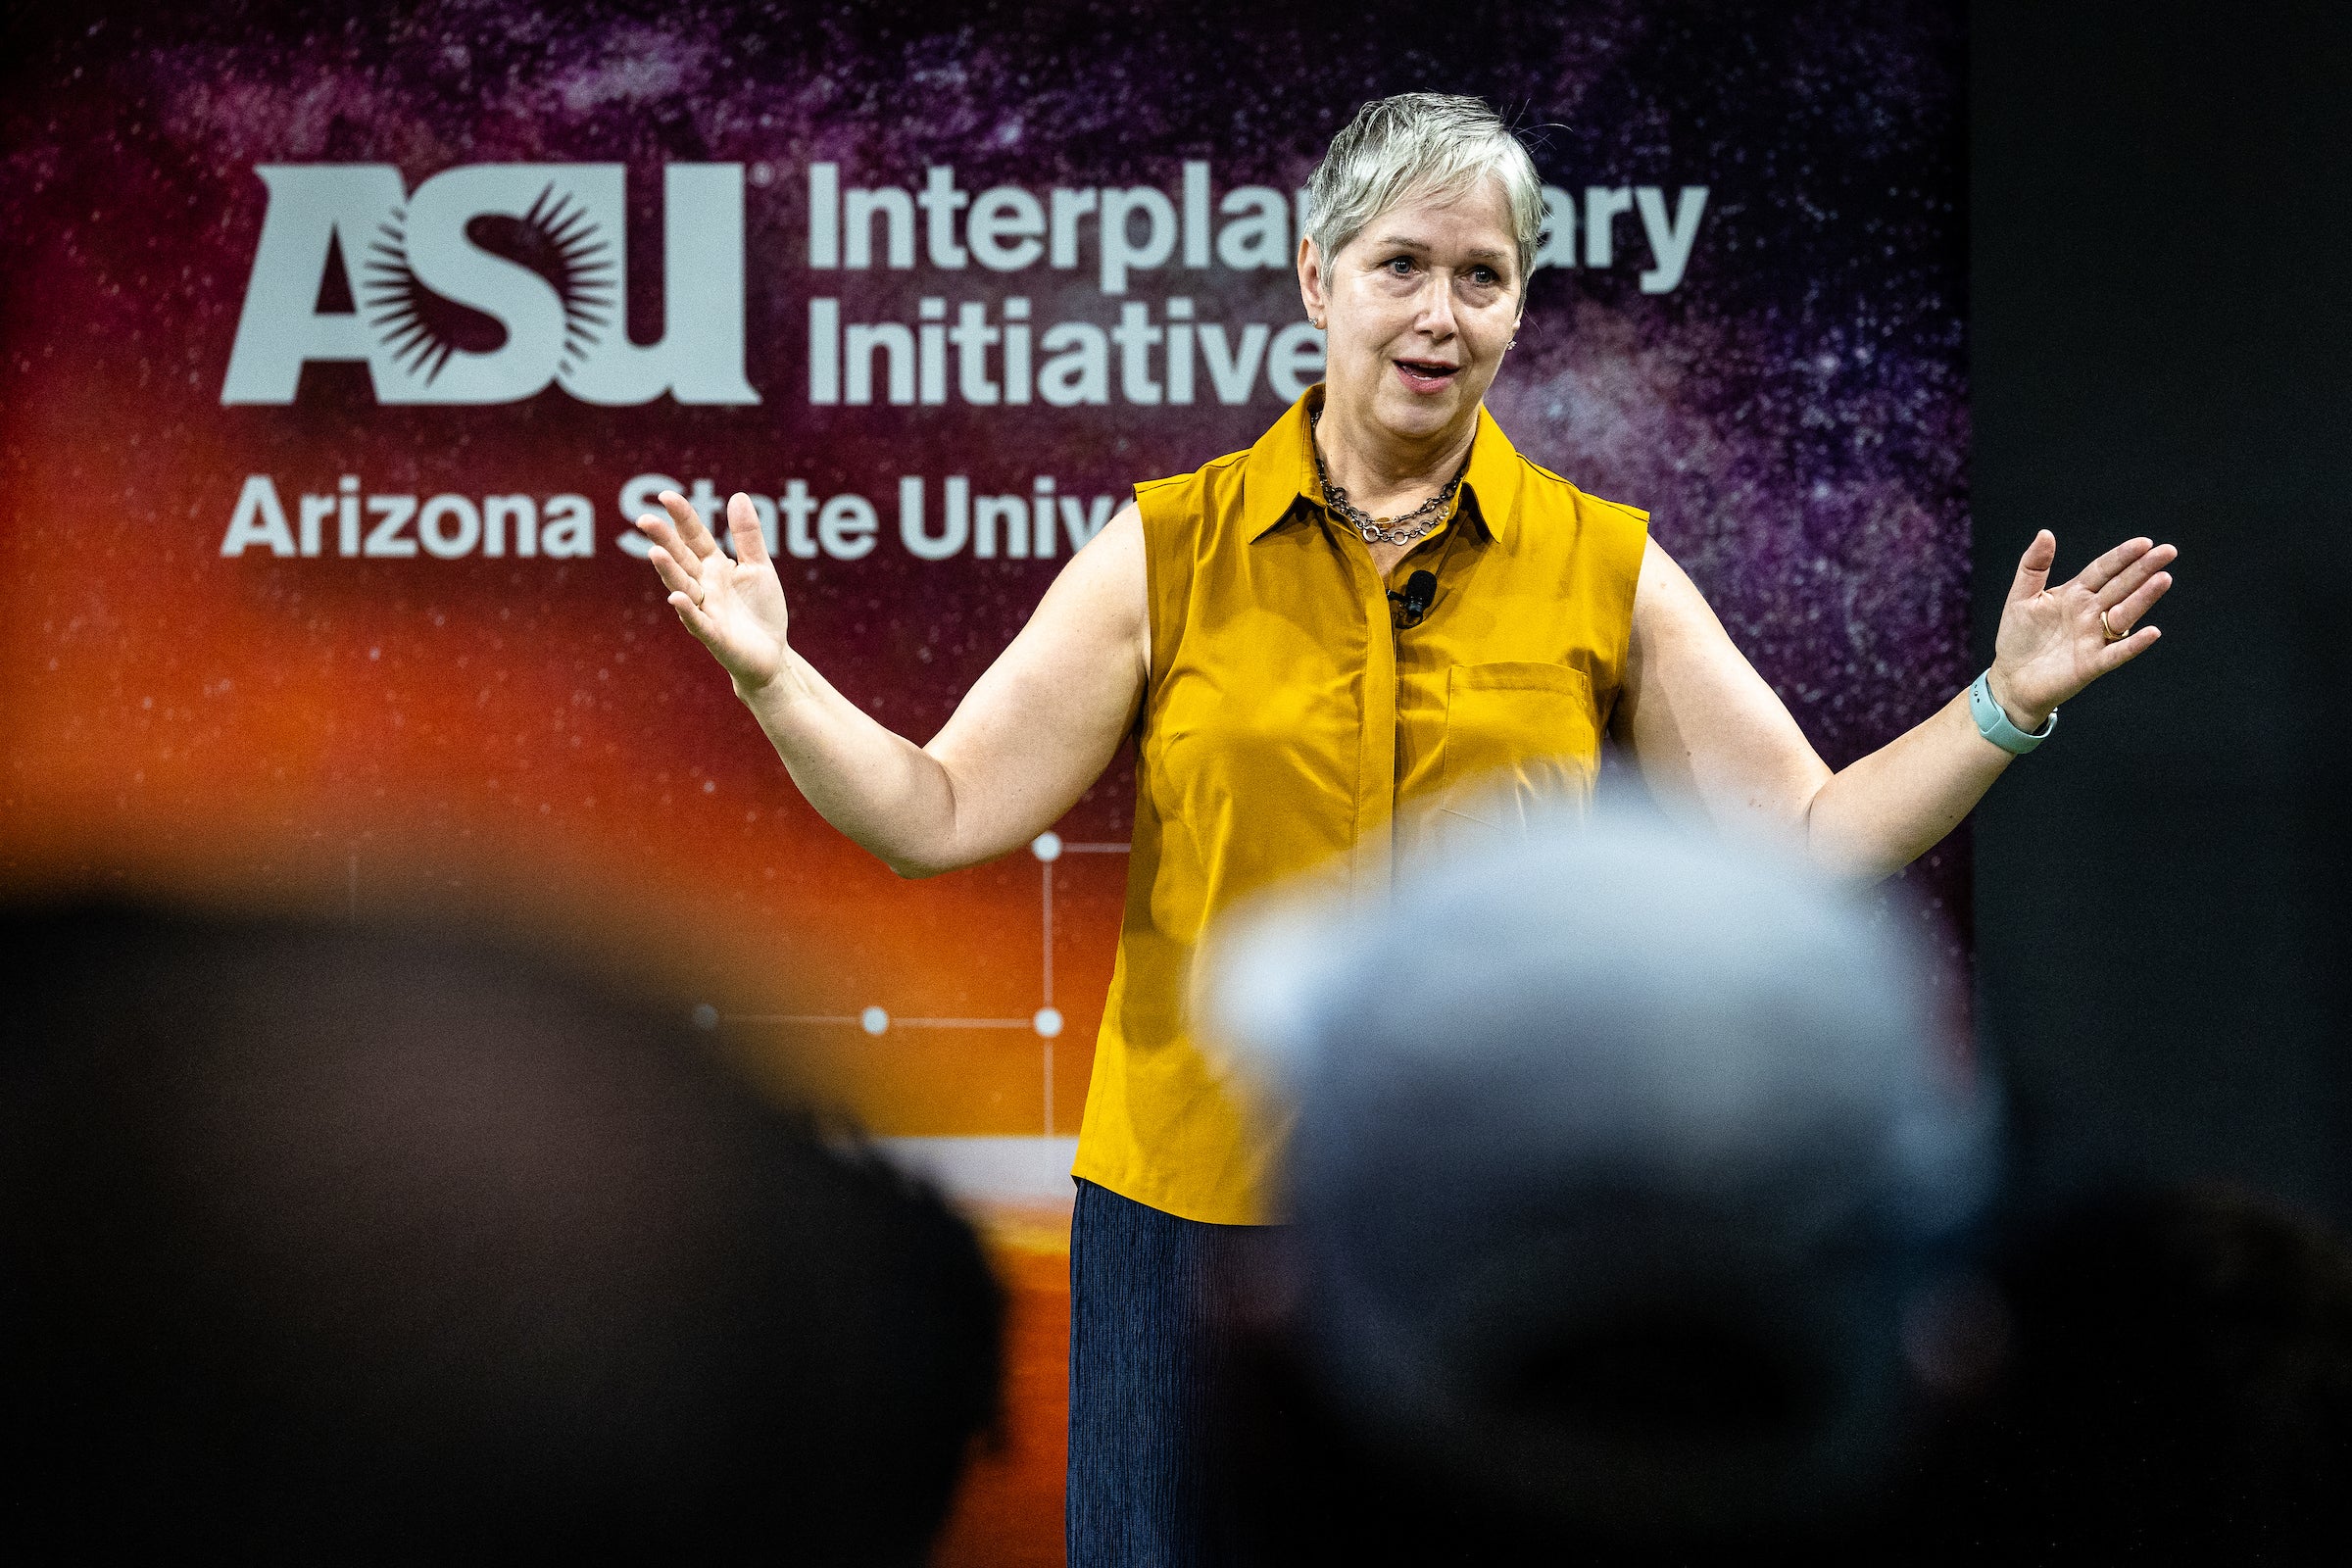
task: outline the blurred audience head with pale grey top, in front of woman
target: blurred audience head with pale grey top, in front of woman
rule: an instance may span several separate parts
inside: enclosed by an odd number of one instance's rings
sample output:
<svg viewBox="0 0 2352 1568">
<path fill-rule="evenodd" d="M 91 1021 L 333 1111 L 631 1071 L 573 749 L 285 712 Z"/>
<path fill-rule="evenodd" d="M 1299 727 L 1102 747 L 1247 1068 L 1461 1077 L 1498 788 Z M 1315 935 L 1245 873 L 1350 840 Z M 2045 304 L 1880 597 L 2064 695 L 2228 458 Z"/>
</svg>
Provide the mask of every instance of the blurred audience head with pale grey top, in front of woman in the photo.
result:
<svg viewBox="0 0 2352 1568">
<path fill-rule="evenodd" d="M 1884 1476 L 1994 1164 L 1889 922 L 1602 820 L 1221 945 L 1211 1023 L 1296 1110 L 1296 1326 L 1367 1429 L 1635 1533 Z"/>
</svg>

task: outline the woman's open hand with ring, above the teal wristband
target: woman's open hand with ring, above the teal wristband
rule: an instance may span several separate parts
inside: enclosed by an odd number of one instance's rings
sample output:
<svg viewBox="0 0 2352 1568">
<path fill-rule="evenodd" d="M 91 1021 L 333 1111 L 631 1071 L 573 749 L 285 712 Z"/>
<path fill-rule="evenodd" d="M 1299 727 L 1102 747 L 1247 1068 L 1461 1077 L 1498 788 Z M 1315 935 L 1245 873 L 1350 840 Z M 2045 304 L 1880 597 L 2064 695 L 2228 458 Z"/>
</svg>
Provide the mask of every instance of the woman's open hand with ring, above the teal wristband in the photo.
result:
<svg viewBox="0 0 2352 1568">
<path fill-rule="evenodd" d="M 1992 696 L 2009 722 L 2042 729 L 2058 703 L 2152 649 L 2159 632 L 2140 625 L 2140 616 L 2173 585 L 2166 567 L 2178 555 L 2171 545 L 2126 538 L 2070 583 L 2051 588 L 2058 536 L 2049 529 L 2034 534 L 1992 639 Z M 2110 639 L 2110 630 L 2119 635 Z"/>
</svg>

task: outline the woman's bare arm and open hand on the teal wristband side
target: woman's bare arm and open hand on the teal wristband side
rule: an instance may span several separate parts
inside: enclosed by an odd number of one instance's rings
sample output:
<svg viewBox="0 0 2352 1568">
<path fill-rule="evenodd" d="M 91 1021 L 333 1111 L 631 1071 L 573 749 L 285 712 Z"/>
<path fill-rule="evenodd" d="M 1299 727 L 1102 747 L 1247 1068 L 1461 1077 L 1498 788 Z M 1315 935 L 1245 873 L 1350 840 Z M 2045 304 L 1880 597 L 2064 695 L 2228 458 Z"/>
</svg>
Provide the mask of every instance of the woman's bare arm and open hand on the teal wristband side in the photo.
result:
<svg viewBox="0 0 2352 1568">
<path fill-rule="evenodd" d="M 2044 531 L 2018 562 L 1992 665 L 1992 693 L 2023 729 L 2039 729 L 2058 703 L 2154 644 L 2152 625 L 2107 642 L 2103 609 L 2117 630 L 2133 628 L 2171 588 L 2171 545 L 2126 541 L 2053 590 L 2056 550 Z M 1613 731 L 1668 811 L 1783 842 L 1858 877 L 1884 877 L 1933 849 L 2013 762 L 1976 733 L 1962 691 L 1832 773 L 1656 541 L 1635 588 Z"/>
</svg>

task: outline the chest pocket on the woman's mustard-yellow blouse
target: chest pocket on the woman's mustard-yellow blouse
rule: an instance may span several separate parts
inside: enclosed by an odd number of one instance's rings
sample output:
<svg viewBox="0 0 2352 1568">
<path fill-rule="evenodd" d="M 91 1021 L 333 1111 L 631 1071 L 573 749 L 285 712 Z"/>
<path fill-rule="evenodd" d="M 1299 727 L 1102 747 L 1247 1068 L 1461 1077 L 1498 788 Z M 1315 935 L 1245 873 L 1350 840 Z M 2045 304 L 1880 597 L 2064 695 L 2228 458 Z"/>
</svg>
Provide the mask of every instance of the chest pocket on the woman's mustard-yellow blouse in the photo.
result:
<svg viewBox="0 0 2352 1568">
<path fill-rule="evenodd" d="M 1599 715 L 1583 670 L 1545 663 L 1446 670 L 1439 778 L 1446 811 L 1522 816 L 1536 799 L 1576 799 L 1599 771 Z"/>
</svg>

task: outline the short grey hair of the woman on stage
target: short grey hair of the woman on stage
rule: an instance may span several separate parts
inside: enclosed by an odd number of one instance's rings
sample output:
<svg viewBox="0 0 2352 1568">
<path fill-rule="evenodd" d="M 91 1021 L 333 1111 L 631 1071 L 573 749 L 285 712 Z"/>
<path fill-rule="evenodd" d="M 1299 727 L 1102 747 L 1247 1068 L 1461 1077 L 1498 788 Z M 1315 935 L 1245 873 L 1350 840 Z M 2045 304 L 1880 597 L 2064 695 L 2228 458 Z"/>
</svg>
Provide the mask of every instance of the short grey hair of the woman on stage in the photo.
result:
<svg viewBox="0 0 2352 1568">
<path fill-rule="evenodd" d="M 1503 183 L 1519 244 L 1519 289 L 1526 289 L 1543 237 L 1543 179 L 1484 99 L 1399 92 L 1355 110 L 1308 179 L 1308 237 L 1329 261 L 1404 197 L 1461 195 L 1486 176 Z"/>
</svg>

